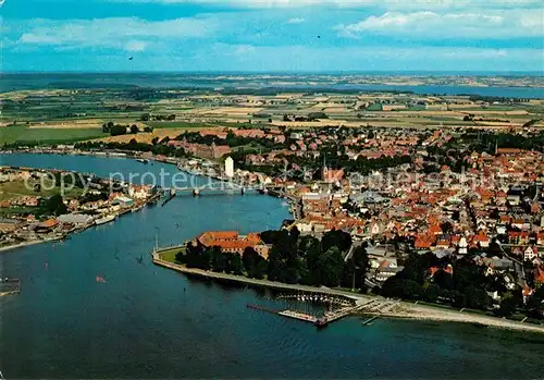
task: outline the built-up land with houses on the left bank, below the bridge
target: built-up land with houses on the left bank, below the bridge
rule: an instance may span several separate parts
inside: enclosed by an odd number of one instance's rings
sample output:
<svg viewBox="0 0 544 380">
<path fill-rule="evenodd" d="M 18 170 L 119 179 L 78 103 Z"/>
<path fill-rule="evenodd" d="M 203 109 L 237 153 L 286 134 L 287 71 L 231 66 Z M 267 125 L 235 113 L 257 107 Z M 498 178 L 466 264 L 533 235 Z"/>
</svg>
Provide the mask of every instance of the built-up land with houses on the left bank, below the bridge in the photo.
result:
<svg viewBox="0 0 544 380">
<path fill-rule="evenodd" d="M 1 201 L 3 218 L 0 219 L 0 245 L 11 245 L 44 238 L 57 238 L 70 232 L 94 224 L 112 221 L 115 217 L 143 207 L 153 195 L 150 185 L 121 184 L 121 189 L 111 192 L 109 180 L 92 179 L 85 188 L 61 194 L 61 187 L 53 182 L 47 185 L 48 195 L 41 195 L 40 179 L 67 172 L 47 170 L 0 169 L 0 185 L 4 186 Z M 32 188 L 27 188 L 32 186 Z M 16 195 L 11 189 L 35 192 L 38 195 Z M 64 213 L 48 209 L 51 194 L 61 194 Z M 13 196 L 12 196 L 13 195 Z"/>
</svg>

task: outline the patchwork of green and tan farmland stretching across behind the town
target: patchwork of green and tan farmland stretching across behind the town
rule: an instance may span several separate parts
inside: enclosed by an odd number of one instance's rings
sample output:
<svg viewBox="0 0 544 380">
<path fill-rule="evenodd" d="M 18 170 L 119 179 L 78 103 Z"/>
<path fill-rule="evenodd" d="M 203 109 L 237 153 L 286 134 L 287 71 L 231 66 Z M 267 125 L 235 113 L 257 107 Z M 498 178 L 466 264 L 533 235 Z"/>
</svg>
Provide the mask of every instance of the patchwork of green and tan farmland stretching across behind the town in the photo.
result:
<svg viewBox="0 0 544 380">
<path fill-rule="evenodd" d="M 500 99 L 499 99 L 500 100 Z M 259 96 L 228 91 L 172 90 L 153 88 L 37 89 L 0 94 L 2 121 L 0 145 L 69 144 L 102 139 L 151 143 L 153 138 L 175 138 L 185 131 L 211 127 L 319 128 L 324 126 L 471 127 L 503 130 L 522 127 L 535 120 L 544 125 L 544 100 L 519 102 L 473 101 L 469 96 L 425 97 L 410 94 L 289 94 Z M 367 109 L 361 106 L 370 102 Z M 391 103 L 390 103 L 391 102 Z M 418 103 L 417 103 L 418 102 Z M 382 105 L 383 103 L 383 105 Z M 320 121 L 284 121 L 285 115 L 305 120 L 323 110 Z M 267 117 L 262 117 L 265 114 Z M 470 114 L 470 120 L 463 120 Z M 144 115 L 150 121 L 143 122 Z M 172 117 L 172 121 L 166 118 Z M 157 121 L 164 120 L 164 121 Z M 152 133 L 110 136 L 104 123 L 136 124 Z"/>
</svg>

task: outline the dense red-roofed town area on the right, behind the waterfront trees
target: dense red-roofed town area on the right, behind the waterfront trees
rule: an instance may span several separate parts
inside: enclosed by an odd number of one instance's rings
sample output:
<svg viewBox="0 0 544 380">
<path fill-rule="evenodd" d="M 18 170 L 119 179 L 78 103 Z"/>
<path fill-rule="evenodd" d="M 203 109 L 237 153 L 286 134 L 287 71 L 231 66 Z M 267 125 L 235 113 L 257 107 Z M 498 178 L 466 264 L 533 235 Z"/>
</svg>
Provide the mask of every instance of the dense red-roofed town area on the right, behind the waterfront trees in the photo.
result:
<svg viewBox="0 0 544 380">
<path fill-rule="evenodd" d="M 351 196 L 364 214 L 362 236 L 408 242 L 438 257 L 472 254 L 490 274 L 515 272 L 530 294 L 543 282 L 544 156 L 497 149 L 495 155 L 473 152 L 465 161 L 463 173 L 443 168 L 442 176 L 432 180 L 384 183 Z M 524 269 L 516 266 L 523 261 Z"/>
</svg>

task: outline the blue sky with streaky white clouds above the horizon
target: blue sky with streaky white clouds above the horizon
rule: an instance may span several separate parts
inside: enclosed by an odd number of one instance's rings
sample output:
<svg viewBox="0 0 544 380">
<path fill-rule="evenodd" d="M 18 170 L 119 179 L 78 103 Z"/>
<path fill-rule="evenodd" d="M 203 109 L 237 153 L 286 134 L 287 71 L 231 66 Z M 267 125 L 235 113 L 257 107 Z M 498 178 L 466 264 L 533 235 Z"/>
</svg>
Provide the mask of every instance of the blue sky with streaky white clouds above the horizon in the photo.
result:
<svg viewBox="0 0 544 380">
<path fill-rule="evenodd" d="M 544 72 L 539 0 L 0 3 L 4 72 Z"/>
</svg>

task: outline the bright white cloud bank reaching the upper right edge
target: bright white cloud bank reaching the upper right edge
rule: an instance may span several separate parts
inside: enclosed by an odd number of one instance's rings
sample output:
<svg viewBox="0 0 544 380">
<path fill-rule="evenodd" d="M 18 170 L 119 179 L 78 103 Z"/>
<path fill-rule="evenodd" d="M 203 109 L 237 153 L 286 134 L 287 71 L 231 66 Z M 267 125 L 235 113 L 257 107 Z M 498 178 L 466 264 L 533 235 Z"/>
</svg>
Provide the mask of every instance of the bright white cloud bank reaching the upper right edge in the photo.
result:
<svg viewBox="0 0 544 380">
<path fill-rule="evenodd" d="M 338 25 L 341 35 L 362 34 L 424 37 L 514 38 L 544 36 L 542 12 L 531 10 L 489 11 L 486 13 L 386 12 L 359 23 Z"/>
</svg>

